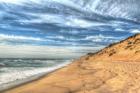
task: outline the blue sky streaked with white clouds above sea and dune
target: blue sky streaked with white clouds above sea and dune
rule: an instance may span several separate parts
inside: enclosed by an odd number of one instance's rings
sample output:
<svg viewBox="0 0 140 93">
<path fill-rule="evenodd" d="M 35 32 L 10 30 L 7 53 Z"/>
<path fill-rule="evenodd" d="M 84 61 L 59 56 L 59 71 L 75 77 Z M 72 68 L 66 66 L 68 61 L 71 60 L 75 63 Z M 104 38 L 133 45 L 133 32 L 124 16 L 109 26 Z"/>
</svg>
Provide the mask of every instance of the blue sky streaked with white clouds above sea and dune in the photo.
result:
<svg viewBox="0 0 140 93">
<path fill-rule="evenodd" d="M 77 58 L 140 33 L 137 0 L 0 0 L 0 58 Z"/>
</svg>

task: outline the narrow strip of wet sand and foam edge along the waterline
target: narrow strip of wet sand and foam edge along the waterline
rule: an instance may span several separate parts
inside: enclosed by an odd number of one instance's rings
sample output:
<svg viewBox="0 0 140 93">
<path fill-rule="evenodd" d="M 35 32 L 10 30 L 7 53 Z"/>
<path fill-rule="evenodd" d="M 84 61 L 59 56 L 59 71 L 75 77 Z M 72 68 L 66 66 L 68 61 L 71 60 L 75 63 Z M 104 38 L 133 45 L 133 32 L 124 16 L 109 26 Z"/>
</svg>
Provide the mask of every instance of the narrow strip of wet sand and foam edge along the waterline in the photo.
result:
<svg viewBox="0 0 140 93">
<path fill-rule="evenodd" d="M 2 88 L 0 88 L 0 93 L 5 93 L 6 91 L 12 90 L 14 88 L 18 88 L 20 86 L 43 79 L 44 77 L 48 76 L 49 74 L 68 66 L 70 63 L 71 63 L 71 61 L 69 63 L 63 64 L 62 66 L 58 66 L 56 69 L 52 69 L 46 73 L 44 72 L 44 73 L 30 76 L 23 80 L 17 80 L 17 81 L 10 82 L 8 85 L 5 85 Z"/>
</svg>

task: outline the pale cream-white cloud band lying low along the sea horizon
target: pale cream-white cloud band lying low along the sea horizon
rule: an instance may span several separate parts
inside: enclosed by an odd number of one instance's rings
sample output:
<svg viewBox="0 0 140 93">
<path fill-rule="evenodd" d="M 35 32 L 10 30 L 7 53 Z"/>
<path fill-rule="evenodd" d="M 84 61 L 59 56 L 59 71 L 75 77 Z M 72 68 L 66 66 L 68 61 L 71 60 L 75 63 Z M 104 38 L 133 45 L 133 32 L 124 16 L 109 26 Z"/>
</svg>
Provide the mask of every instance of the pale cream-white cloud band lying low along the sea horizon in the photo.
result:
<svg viewBox="0 0 140 93">
<path fill-rule="evenodd" d="M 0 45 L 0 58 L 77 58 L 102 47 Z M 83 53 L 81 53 L 83 51 Z"/>
</svg>

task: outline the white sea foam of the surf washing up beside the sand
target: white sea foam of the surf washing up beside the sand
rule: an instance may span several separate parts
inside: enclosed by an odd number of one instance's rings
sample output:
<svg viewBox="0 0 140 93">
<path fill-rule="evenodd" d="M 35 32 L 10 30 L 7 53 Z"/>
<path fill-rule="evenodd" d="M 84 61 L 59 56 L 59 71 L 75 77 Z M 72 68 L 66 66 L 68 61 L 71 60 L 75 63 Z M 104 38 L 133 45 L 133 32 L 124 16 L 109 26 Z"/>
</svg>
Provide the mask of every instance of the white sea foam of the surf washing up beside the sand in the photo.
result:
<svg viewBox="0 0 140 93">
<path fill-rule="evenodd" d="M 4 73 L 0 74 L 0 86 L 1 86 L 0 91 L 18 85 L 20 83 L 25 83 L 32 79 L 39 78 L 40 76 L 49 73 L 51 71 L 54 71 L 58 68 L 61 68 L 63 66 L 66 66 L 69 63 L 70 61 L 66 61 L 64 63 L 60 63 L 52 67 L 40 67 L 40 68 L 35 67 L 1 68 L 0 71 L 3 71 Z"/>
</svg>

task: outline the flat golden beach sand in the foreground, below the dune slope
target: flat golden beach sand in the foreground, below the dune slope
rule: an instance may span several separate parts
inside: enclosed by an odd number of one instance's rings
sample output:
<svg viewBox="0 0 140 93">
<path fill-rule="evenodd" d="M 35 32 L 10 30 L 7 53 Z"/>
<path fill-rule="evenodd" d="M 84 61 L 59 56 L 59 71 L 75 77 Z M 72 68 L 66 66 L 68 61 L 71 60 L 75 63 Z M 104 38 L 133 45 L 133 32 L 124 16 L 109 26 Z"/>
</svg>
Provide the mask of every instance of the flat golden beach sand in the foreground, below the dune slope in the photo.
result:
<svg viewBox="0 0 140 93">
<path fill-rule="evenodd" d="M 94 69 L 88 66 L 82 68 L 79 64 L 80 62 L 71 64 L 3 93 L 129 93 L 128 91 L 137 93 L 134 91 L 139 91 L 137 88 L 140 86 L 139 62 L 124 64 L 96 62 Z"/>
</svg>

